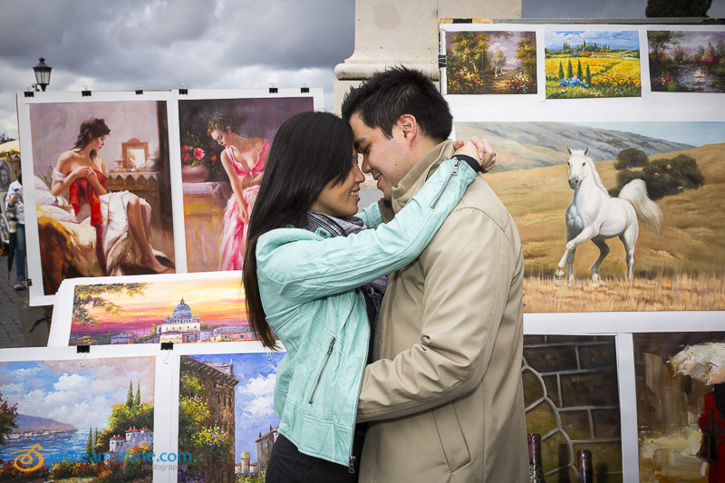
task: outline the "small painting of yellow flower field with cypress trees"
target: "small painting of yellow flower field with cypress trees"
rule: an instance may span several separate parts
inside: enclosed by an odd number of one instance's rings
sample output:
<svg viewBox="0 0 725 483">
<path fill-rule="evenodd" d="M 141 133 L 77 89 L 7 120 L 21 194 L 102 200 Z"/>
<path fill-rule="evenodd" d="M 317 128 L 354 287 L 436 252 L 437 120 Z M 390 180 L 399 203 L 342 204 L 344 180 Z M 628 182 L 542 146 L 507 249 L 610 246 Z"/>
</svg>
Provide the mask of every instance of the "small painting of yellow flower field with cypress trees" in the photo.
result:
<svg viewBox="0 0 725 483">
<path fill-rule="evenodd" d="M 546 99 L 639 97 L 637 31 L 546 32 Z"/>
</svg>

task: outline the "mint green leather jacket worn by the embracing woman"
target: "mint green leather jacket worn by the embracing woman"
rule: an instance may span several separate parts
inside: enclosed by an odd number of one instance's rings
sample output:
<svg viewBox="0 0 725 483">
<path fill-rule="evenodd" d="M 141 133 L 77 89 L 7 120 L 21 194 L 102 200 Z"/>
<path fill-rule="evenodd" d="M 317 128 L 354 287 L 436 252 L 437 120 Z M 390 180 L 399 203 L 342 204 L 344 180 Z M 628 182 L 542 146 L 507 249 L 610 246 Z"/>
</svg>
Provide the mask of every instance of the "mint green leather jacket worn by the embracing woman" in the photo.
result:
<svg viewBox="0 0 725 483">
<path fill-rule="evenodd" d="M 356 288 L 415 260 L 475 177 L 468 164 L 449 159 L 390 223 L 382 223 L 375 203 L 358 215 L 374 229 L 349 237 L 300 228 L 259 237 L 259 292 L 286 350 L 277 368 L 275 414 L 280 434 L 304 454 L 352 465 L 370 337 Z"/>
</svg>

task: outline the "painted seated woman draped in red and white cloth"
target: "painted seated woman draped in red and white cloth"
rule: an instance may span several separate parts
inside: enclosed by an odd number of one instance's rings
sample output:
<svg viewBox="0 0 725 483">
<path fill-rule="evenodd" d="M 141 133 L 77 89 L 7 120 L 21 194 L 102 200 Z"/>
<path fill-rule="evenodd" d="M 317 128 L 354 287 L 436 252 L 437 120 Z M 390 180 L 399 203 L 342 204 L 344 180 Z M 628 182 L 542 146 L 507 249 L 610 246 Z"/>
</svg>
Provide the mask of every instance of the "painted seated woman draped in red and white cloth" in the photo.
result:
<svg viewBox="0 0 725 483">
<path fill-rule="evenodd" d="M 146 200 L 129 191 L 110 193 L 106 163 L 98 155 L 111 130 L 102 119 L 82 121 L 73 148 L 61 154 L 53 169 L 51 194 L 68 190 L 79 223 L 90 223 L 96 230 L 96 254 L 105 275 L 122 275 L 120 263 L 127 256 L 122 242 L 131 234 L 139 249 L 139 264 L 152 273 L 169 271 L 157 259 L 150 244 L 151 208 Z"/>
</svg>

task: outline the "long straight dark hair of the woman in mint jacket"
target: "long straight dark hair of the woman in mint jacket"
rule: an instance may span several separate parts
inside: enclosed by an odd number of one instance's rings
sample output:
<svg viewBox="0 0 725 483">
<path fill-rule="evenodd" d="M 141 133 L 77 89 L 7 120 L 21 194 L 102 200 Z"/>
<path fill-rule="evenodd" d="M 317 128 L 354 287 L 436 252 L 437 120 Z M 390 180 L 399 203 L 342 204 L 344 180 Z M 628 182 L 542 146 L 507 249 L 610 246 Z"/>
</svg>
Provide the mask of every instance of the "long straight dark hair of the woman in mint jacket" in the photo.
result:
<svg viewBox="0 0 725 483">
<path fill-rule="evenodd" d="M 262 343 L 276 348 L 256 280 L 256 242 L 266 232 L 304 228 L 307 210 L 328 185 L 342 183 L 353 160 L 353 130 L 330 112 L 302 112 L 277 130 L 255 207 L 249 217 L 244 258 L 247 316 Z"/>
</svg>

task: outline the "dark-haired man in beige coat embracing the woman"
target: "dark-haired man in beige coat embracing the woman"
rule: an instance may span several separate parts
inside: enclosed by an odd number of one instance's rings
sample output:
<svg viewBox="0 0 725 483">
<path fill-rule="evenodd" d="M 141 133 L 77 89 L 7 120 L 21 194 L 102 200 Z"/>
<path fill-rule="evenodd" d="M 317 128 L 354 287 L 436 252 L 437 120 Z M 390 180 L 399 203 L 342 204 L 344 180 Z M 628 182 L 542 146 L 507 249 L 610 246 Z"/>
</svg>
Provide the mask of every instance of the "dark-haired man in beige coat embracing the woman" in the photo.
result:
<svg viewBox="0 0 725 483">
<path fill-rule="evenodd" d="M 452 157 L 448 104 L 421 72 L 376 73 L 348 93 L 343 117 L 385 221 Z M 358 407 L 372 421 L 361 481 L 527 481 L 523 275 L 514 220 L 478 177 L 420 257 L 388 277 Z"/>
</svg>

